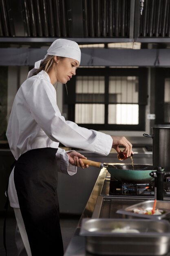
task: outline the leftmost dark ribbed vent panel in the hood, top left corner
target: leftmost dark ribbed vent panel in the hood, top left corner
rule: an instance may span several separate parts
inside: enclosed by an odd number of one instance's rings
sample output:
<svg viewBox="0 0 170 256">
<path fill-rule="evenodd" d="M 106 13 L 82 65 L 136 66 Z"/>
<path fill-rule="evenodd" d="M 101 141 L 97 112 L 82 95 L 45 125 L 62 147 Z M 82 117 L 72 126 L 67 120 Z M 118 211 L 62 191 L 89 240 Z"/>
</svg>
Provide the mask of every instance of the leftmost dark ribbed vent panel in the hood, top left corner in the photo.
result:
<svg viewBox="0 0 170 256">
<path fill-rule="evenodd" d="M 66 0 L 0 0 L 0 36 L 69 36 L 66 4 Z"/>
</svg>

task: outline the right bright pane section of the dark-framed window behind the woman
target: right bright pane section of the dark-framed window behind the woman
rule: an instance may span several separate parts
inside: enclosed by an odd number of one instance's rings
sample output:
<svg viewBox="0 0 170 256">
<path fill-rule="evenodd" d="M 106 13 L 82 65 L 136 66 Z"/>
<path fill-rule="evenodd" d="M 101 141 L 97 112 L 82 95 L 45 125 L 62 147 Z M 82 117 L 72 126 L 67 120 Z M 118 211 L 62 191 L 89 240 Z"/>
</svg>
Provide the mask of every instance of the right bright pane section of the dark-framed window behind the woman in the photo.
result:
<svg viewBox="0 0 170 256">
<path fill-rule="evenodd" d="M 139 124 L 137 76 L 109 76 L 108 124 Z"/>
</svg>

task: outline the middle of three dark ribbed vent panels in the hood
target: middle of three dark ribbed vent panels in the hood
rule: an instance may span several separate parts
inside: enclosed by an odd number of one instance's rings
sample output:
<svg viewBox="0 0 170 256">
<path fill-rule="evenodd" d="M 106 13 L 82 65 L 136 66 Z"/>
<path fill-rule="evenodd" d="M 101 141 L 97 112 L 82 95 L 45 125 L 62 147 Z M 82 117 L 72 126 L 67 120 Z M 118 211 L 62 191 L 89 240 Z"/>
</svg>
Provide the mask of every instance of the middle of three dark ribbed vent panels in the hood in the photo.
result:
<svg viewBox="0 0 170 256">
<path fill-rule="evenodd" d="M 129 37 L 130 0 L 83 0 L 84 37 Z"/>
</svg>

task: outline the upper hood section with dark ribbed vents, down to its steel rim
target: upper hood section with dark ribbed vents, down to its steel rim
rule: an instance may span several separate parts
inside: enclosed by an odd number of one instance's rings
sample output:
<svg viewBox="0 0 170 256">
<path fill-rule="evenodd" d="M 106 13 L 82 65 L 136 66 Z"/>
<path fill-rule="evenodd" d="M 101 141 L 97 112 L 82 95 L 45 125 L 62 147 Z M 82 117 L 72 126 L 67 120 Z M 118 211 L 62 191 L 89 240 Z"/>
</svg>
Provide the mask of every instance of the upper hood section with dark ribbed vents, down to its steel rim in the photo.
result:
<svg viewBox="0 0 170 256">
<path fill-rule="evenodd" d="M 170 42 L 170 1 L 1 0 L 0 42 Z"/>
</svg>

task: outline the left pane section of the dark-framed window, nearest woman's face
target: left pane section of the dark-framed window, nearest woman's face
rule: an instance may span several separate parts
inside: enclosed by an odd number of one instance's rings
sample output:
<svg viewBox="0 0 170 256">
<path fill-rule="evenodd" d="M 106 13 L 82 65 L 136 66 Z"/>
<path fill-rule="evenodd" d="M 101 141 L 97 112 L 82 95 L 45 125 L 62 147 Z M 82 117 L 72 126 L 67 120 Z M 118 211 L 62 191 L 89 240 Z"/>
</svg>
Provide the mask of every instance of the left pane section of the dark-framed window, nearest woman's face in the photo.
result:
<svg viewBox="0 0 170 256">
<path fill-rule="evenodd" d="M 75 123 L 104 124 L 104 76 L 77 76 Z"/>
</svg>

